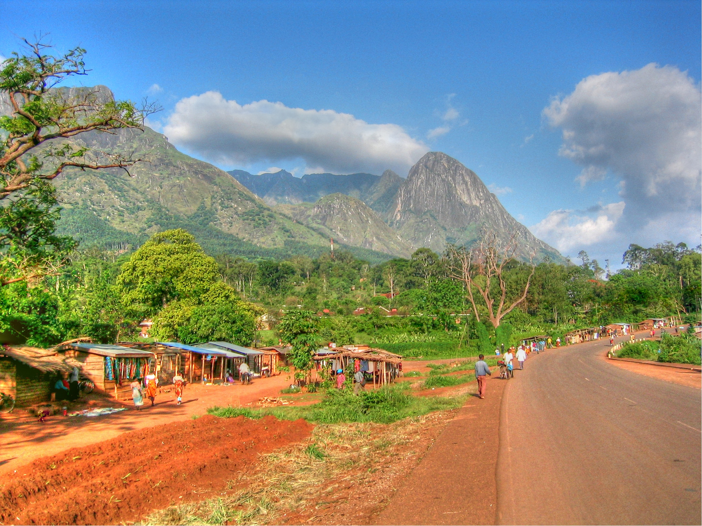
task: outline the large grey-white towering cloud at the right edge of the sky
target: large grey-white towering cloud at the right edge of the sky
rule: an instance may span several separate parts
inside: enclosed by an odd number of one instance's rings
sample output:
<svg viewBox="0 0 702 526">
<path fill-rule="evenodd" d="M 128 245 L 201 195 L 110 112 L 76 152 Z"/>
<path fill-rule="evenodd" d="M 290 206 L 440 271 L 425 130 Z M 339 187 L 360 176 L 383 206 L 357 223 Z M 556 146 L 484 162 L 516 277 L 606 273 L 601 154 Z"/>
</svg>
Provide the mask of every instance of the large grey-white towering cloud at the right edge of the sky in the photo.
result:
<svg viewBox="0 0 702 526">
<path fill-rule="evenodd" d="M 701 95 L 687 72 L 649 64 L 588 76 L 567 97 L 554 98 L 543 115 L 563 130 L 559 153 L 583 166 L 578 182 L 618 177 L 626 203 L 618 231 L 631 235 L 656 217 L 674 224 L 670 218 L 677 215 L 693 217 L 698 236 Z M 600 221 L 599 228 L 606 224 Z M 592 231 L 596 227 L 593 222 Z"/>
</svg>

